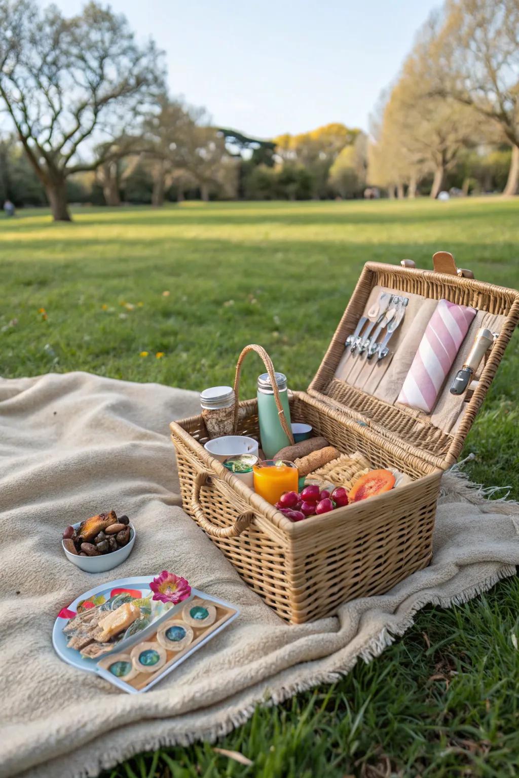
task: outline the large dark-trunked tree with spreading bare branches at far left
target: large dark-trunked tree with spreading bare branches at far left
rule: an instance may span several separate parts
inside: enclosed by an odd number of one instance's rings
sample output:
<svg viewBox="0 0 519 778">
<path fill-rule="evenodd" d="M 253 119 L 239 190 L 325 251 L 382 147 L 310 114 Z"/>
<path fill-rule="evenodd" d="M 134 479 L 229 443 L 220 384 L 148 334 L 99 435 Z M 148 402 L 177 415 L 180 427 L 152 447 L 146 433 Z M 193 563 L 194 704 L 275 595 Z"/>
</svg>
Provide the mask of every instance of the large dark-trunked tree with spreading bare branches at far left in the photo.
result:
<svg viewBox="0 0 519 778">
<path fill-rule="evenodd" d="M 56 6 L 0 0 L 0 102 L 55 220 L 70 220 L 68 176 L 117 159 L 117 145 L 95 158 L 93 145 L 120 137 L 155 100 L 161 63 L 153 42 L 139 46 L 124 16 L 96 2 L 65 19 Z"/>
</svg>

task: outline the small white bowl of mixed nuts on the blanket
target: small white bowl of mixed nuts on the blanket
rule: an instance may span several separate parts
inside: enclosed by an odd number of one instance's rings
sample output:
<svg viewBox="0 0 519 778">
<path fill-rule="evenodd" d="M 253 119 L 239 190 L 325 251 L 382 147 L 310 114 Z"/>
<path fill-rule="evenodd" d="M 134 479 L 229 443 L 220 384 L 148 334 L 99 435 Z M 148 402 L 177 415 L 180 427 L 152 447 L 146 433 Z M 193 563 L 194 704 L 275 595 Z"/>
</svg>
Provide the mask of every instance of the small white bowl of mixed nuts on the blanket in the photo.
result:
<svg viewBox="0 0 519 778">
<path fill-rule="evenodd" d="M 69 562 L 86 573 L 104 573 L 128 559 L 135 543 L 135 527 L 128 516 L 114 510 L 99 513 L 66 527 L 61 546 Z"/>
</svg>

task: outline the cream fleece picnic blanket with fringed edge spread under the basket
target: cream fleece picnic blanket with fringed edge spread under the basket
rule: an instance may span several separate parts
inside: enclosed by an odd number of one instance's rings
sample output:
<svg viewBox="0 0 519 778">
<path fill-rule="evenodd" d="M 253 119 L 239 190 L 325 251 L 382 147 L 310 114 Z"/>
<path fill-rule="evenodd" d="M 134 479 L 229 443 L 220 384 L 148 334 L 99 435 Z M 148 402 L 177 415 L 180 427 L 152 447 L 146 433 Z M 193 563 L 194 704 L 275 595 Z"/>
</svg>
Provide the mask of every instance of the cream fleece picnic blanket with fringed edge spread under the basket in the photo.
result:
<svg viewBox="0 0 519 778">
<path fill-rule="evenodd" d="M 193 392 L 87 373 L 0 379 L 0 775 L 95 776 L 136 752 L 214 739 L 259 703 L 336 681 L 369 661 L 427 603 L 472 598 L 515 573 L 518 506 L 446 475 L 434 559 L 382 597 L 287 626 L 181 509 L 168 423 Z M 114 508 L 135 522 L 132 555 L 91 576 L 61 551 L 67 524 Z M 240 618 L 142 695 L 64 664 L 51 630 L 97 584 L 170 569 L 241 608 Z"/>
</svg>

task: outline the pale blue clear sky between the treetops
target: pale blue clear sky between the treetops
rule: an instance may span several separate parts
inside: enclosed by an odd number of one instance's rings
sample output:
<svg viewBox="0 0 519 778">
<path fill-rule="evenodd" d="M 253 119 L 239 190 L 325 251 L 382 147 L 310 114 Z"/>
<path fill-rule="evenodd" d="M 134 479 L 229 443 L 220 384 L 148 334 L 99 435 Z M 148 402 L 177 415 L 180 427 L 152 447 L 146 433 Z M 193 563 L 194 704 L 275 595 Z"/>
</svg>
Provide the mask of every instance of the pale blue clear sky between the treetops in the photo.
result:
<svg viewBox="0 0 519 778">
<path fill-rule="evenodd" d="M 58 0 L 67 14 L 82 0 Z M 368 128 L 438 0 L 111 0 L 167 51 L 170 90 L 258 137 L 330 121 Z"/>
</svg>

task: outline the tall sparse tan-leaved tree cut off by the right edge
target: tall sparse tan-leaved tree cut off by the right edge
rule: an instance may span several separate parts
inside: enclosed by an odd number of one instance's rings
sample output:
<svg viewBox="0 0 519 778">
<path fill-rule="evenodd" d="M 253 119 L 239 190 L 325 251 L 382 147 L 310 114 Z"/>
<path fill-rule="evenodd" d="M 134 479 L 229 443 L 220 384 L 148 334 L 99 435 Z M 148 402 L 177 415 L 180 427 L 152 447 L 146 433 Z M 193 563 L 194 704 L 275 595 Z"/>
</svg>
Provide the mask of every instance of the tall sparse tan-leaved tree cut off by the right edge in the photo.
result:
<svg viewBox="0 0 519 778">
<path fill-rule="evenodd" d="M 447 0 L 427 51 L 433 90 L 497 124 L 512 146 L 505 193 L 519 180 L 519 0 Z"/>
</svg>

